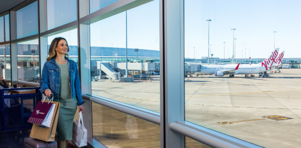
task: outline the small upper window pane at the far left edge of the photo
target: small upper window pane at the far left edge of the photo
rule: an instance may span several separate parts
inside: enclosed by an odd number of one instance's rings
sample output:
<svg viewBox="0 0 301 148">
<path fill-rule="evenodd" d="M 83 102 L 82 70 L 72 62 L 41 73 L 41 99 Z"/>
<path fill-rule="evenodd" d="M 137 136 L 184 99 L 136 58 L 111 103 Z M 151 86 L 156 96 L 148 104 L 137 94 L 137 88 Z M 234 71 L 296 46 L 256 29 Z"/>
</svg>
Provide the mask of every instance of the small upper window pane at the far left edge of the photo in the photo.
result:
<svg viewBox="0 0 301 148">
<path fill-rule="evenodd" d="M 9 14 L 0 17 L 0 42 L 9 41 Z"/>
</svg>

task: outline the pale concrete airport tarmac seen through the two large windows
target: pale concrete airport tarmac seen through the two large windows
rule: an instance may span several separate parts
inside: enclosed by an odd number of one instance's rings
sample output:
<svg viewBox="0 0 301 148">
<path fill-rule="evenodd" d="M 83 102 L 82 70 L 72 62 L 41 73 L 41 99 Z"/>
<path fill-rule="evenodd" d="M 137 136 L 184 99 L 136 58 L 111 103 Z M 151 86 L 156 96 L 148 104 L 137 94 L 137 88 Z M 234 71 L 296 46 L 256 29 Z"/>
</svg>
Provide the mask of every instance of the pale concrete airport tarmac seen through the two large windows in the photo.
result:
<svg viewBox="0 0 301 148">
<path fill-rule="evenodd" d="M 159 75 L 151 78 L 151 82 L 92 81 L 92 94 L 159 112 Z M 300 94 L 301 69 L 281 69 L 264 78 L 186 77 L 185 117 L 265 148 L 300 148 Z M 193 140 L 189 143 L 198 148 Z"/>
</svg>

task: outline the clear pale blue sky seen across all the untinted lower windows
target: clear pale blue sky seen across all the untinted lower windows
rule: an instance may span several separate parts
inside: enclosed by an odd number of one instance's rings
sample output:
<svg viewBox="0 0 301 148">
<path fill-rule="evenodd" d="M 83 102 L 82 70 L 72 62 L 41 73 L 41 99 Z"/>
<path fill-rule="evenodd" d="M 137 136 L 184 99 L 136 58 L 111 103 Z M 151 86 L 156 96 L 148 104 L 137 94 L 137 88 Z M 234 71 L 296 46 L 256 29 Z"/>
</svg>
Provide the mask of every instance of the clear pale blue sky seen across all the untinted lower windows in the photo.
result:
<svg viewBox="0 0 301 148">
<path fill-rule="evenodd" d="M 209 39 L 213 57 L 233 54 L 236 58 L 266 58 L 275 47 L 284 58 L 301 55 L 301 0 L 185 0 L 185 57 L 208 56 Z M 127 16 L 127 19 L 126 19 Z M 127 28 L 126 28 L 127 21 Z M 127 29 L 127 36 L 126 36 Z M 276 31 L 277 33 L 273 33 Z M 77 45 L 77 30 L 48 37 L 65 37 Z M 126 42 L 127 39 L 127 42 Z M 159 50 L 159 0 L 132 8 L 90 25 L 91 46 Z M 224 43 L 225 53 L 224 53 Z M 195 47 L 195 51 L 193 51 Z"/>
</svg>

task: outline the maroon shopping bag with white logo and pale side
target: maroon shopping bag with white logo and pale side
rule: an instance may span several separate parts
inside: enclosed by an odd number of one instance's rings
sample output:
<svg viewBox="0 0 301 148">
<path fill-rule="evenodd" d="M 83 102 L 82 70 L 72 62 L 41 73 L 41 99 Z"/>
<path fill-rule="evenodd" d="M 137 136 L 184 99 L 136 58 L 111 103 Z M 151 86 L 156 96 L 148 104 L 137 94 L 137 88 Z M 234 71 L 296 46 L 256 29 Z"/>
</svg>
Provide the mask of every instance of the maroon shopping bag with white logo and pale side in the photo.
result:
<svg viewBox="0 0 301 148">
<path fill-rule="evenodd" d="M 29 117 L 27 122 L 45 126 L 45 127 L 50 127 L 50 123 L 52 120 L 53 112 L 55 109 L 55 104 L 53 103 L 44 103 L 46 98 L 44 98 L 43 101 L 39 101 L 36 108 L 34 109 L 33 113 Z M 51 102 L 53 100 L 53 97 L 51 98 Z"/>
</svg>

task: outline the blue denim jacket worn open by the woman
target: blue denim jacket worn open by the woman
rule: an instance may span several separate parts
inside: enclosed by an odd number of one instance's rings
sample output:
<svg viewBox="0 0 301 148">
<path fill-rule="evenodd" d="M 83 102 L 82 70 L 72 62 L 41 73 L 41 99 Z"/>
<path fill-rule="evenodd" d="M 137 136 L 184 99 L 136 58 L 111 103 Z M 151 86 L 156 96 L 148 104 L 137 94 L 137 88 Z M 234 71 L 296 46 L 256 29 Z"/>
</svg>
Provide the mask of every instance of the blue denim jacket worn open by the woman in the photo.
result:
<svg viewBox="0 0 301 148">
<path fill-rule="evenodd" d="M 85 101 L 82 101 L 81 98 L 80 81 L 76 63 L 68 58 L 65 59 L 67 59 L 68 61 L 70 77 L 69 86 L 71 89 L 72 99 L 76 96 L 77 106 L 81 106 L 85 103 Z M 53 101 L 59 100 L 60 68 L 56 64 L 55 58 L 52 58 L 50 61 L 45 62 L 43 67 L 40 92 L 44 94 L 46 89 L 50 89 L 50 91 L 53 93 Z"/>
</svg>

